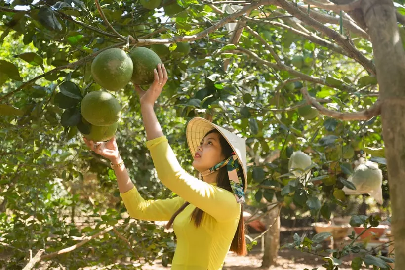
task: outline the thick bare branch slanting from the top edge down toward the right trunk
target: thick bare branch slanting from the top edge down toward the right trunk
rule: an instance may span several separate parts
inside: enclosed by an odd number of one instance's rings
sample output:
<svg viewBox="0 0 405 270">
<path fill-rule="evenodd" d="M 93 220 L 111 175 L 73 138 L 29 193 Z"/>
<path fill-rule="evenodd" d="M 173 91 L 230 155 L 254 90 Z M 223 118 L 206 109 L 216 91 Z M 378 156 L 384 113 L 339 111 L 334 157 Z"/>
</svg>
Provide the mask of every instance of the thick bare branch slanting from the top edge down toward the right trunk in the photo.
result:
<svg viewBox="0 0 405 270">
<path fill-rule="evenodd" d="M 331 28 L 324 26 L 322 23 L 314 20 L 308 14 L 295 8 L 291 3 L 286 0 L 276 0 L 277 3 L 283 7 L 288 13 L 294 15 L 297 19 L 305 22 L 306 24 L 312 26 L 316 30 L 324 33 L 329 38 L 335 40 L 344 50 L 348 52 L 351 58 L 355 59 L 359 64 L 361 64 L 370 74 L 375 75 L 374 64 L 367 59 L 345 36 L 340 35 L 338 32 Z"/>
</svg>

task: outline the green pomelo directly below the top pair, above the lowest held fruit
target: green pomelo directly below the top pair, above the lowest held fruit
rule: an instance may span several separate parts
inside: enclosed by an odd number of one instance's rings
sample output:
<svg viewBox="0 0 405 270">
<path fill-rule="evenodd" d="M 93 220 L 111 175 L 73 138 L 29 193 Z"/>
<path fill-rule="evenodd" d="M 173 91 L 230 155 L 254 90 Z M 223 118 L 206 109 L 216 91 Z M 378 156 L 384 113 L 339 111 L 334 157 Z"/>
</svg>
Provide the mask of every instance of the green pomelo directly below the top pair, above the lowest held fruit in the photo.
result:
<svg viewBox="0 0 405 270">
<path fill-rule="evenodd" d="M 121 106 L 116 97 L 105 91 L 94 91 L 84 96 L 81 116 L 92 125 L 109 126 L 120 118 Z"/>
</svg>

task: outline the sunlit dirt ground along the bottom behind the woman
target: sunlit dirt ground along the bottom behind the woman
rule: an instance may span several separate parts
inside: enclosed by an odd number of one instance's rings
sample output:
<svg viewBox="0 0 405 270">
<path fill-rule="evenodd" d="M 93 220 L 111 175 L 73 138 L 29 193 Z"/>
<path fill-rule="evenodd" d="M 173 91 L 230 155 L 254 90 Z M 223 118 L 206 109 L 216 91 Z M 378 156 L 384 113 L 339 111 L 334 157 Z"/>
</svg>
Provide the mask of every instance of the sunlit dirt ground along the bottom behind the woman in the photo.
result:
<svg viewBox="0 0 405 270">
<path fill-rule="evenodd" d="M 253 270 L 253 269 L 263 269 L 261 268 L 263 253 L 261 253 L 260 248 L 255 248 L 247 256 L 237 256 L 234 253 L 228 253 L 225 259 L 225 264 L 223 270 Z M 281 250 L 279 251 L 279 256 L 277 258 L 278 265 L 271 267 L 270 270 L 303 270 L 305 268 L 313 269 L 318 268 L 318 270 L 325 269 L 322 264 L 325 262 L 321 257 L 301 253 L 296 250 Z M 156 261 L 155 265 L 142 267 L 143 270 L 169 270 L 170 267 L 163 267 L 160 261 Z M 339 266 L 339 269 L 352 269 L 350 267 L 350 262 L 345 262 L 344 265 Z M 366 269 L 366 268 L 364 268 Z"/>
</svg>

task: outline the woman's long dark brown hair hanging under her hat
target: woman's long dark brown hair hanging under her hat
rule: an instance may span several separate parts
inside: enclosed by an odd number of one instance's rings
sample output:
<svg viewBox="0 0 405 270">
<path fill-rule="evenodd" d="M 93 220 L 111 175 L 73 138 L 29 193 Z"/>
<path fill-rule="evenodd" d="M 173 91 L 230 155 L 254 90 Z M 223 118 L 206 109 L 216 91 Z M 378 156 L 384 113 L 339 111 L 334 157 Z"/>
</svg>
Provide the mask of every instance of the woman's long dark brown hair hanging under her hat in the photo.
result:
<svg viewBox="0 0 405 270">
<path fill-rule="evenodd" d="M 211 134 L 211 133 L 217 133 L 219 135 L 219 143 L 222 148 L 222 154 L 225 157 L 231 156 L 233 150 L 232 150 L 231 146 L 228 144 L 228 142 L 225 140 L 225 138 L 219 133 L 219 131 L 216 129 L 213 129 L 213 130 L 207 132 L 207 134 L 205 134 L 205 136 L 207 136 L 208 134 Z M 242 180 L 244 180 L 244 175 L 243 175 L 242 170 L 240 170 L 240 173 L 242 176 Z M 228 170 L 227 170 L 226 166 L 219 169 L 219 171 L 218 171 L 217 187 L 220 187 L 227 191 L 232 192 L 231 184 L 229 183 Z M 185 202 L 173 214 L 173 216 L 171 217 L 171 219 L 169 220 L 169 222 L 166 225 L 166 229 L 170 228 L 170 226 L 173 224 L 173 221 L 177 217 L 177 215 L 181 211 L 183 211 L 189 204 L 190 204 L 189 202 Z M 199 227 L 201 225 L 203 214 L 204 214 L 204 211 L 202 211 L 200 208 L 197 208 L 197 207 L 196 207 L 196 209 L 194 209 L 193 213 L 191 214 L 191 220 L 194 221 L 194 225 L 196 227 Z M 244 238 L 244 234 L 245 234 L 245 226 L 244 226 L 244 221 L 243 221 L 243 204 L 241 204 L 241 216 L 239 218 L 238 228 L 236 229 L 235 236 L 232 240 L 232 244 L 231 244 L 231 248 L 230 248 L 231 251 L 236 252 L 238 255 L 247 254 L 246 240 Z"/>
</svg>

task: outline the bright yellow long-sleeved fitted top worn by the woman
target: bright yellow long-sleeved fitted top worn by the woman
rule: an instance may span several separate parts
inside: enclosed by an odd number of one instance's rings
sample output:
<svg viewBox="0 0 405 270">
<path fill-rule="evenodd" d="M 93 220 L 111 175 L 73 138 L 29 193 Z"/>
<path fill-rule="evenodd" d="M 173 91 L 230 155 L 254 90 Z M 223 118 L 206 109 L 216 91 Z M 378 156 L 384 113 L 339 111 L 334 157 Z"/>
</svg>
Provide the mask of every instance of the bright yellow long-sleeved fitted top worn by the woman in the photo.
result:
<svg viewBox="0 0 405 270">
<path fill-rule="evenodd" d="M 159 179 L 178 197 L 145 201 L 134 187 L 121 197 L 136 219 L 167 221 L 185 201 L 188 205 L 174 220 L 177 236 L 172 270 L 222 269 L 238 226 L 241 205 L 233 193 L 205 183 L 184 171 L 165 136 L 146 143 Z M 205 213 L 199 228 L 190 220 L 198 207 Z"/>
</svg>

